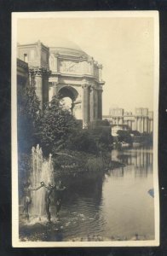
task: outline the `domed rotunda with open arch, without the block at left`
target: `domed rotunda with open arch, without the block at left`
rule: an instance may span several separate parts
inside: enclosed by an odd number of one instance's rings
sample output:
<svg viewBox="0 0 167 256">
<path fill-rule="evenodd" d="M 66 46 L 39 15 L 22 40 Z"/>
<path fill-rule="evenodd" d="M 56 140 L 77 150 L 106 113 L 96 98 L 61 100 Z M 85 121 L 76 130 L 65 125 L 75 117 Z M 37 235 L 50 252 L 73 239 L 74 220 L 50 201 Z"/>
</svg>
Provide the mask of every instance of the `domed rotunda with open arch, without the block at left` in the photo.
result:
<svg viewBox="0 0 167 256">
<path fill-rule="evenodd" d="M 49 100 L 58 94 L 72 99 L 72 113 L 83 120 L 102 119 L 102 65 L 72 42 L 49 47 Z"/>
</svg>

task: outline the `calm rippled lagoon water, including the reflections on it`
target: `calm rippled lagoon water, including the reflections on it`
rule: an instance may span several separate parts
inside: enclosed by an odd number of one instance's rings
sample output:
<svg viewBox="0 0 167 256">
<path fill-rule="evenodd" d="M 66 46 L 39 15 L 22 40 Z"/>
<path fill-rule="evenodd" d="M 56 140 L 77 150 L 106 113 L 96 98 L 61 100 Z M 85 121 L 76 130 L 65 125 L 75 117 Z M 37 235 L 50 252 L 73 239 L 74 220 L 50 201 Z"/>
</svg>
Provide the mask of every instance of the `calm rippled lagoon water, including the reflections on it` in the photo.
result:
<svg viewBox="0 0 167 256">
<path fill-rule="evenodd" d="M 52 224 L 45 218 L 37 223 L 21 223 L 20 237 L 28 240 L 69 241 L 129 240 L 135 234 L 139 239 L 154 238 L 153 150 L 133 148 L 112 150 L 112 160 L 119 160 L 125 167 L 110 170 L 105 177 L 72 177 L 65 180 L 66 195 L 55 219 L 51 208 Z M 86 238 L 87 237 L 87 238 Z"/>
</svg>

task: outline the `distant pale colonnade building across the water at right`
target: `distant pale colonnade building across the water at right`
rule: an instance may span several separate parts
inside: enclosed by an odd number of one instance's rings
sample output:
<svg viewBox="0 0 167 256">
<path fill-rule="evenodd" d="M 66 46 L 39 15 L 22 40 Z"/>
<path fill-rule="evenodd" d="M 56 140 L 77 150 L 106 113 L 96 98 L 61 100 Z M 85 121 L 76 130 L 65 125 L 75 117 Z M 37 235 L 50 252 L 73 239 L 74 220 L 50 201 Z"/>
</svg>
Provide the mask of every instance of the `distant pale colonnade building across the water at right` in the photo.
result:
<svg viewBox="0 0 167 256">
<path fill-rule="evenodd" d="M 109 115 L 104 115 L 103 119 L 108 119 L 112 126 L 128 125 L 132 131 L 153 132 L 153 111 L 148 111 L 148 108 L 135 108 L 135 113 L 124 112 L 123 108 L 110 108 Z"/>
</svg>

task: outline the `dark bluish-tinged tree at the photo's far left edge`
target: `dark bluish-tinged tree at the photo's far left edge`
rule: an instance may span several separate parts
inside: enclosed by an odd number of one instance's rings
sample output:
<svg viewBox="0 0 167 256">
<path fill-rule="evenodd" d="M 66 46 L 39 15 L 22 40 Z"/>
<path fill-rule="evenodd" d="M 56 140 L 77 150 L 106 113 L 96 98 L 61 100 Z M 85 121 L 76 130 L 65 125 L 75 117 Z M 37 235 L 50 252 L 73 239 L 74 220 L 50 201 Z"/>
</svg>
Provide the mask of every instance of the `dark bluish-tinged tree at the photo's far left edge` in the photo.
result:
<svg viewBox="0 0 167 256">
<path fill-rule="evenodd" d="M 40 113 L 36 88 L 18 86 L 18 144 L 21 152 L 29 151 L 36 142 L 37 119 Z"/>
</svg>

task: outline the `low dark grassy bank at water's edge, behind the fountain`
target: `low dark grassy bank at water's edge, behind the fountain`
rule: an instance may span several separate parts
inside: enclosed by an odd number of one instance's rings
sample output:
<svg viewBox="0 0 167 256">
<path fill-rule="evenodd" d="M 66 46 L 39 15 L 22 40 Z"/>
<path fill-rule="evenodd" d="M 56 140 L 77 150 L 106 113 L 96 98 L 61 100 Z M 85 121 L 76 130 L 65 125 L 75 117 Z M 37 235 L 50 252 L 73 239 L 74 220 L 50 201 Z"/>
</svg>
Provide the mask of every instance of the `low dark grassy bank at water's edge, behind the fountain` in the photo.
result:
<svg viewBox="0 0 167 256">
<path fill-rule="evenodd" d="M 111 160 L 111 153 L 99 155 L 87 154 L 78 151 L 60 151 L 53 154 L 53 165 L 57 176 L 101 176 L 108 170 L 122 167 L 123 164 Z M 20 182 L 27 180 L 32 168 L 31 156 L 22 154 L 19 158 Z M 22 182 L 21 182 L 22 183 Z"/>
</svg>

